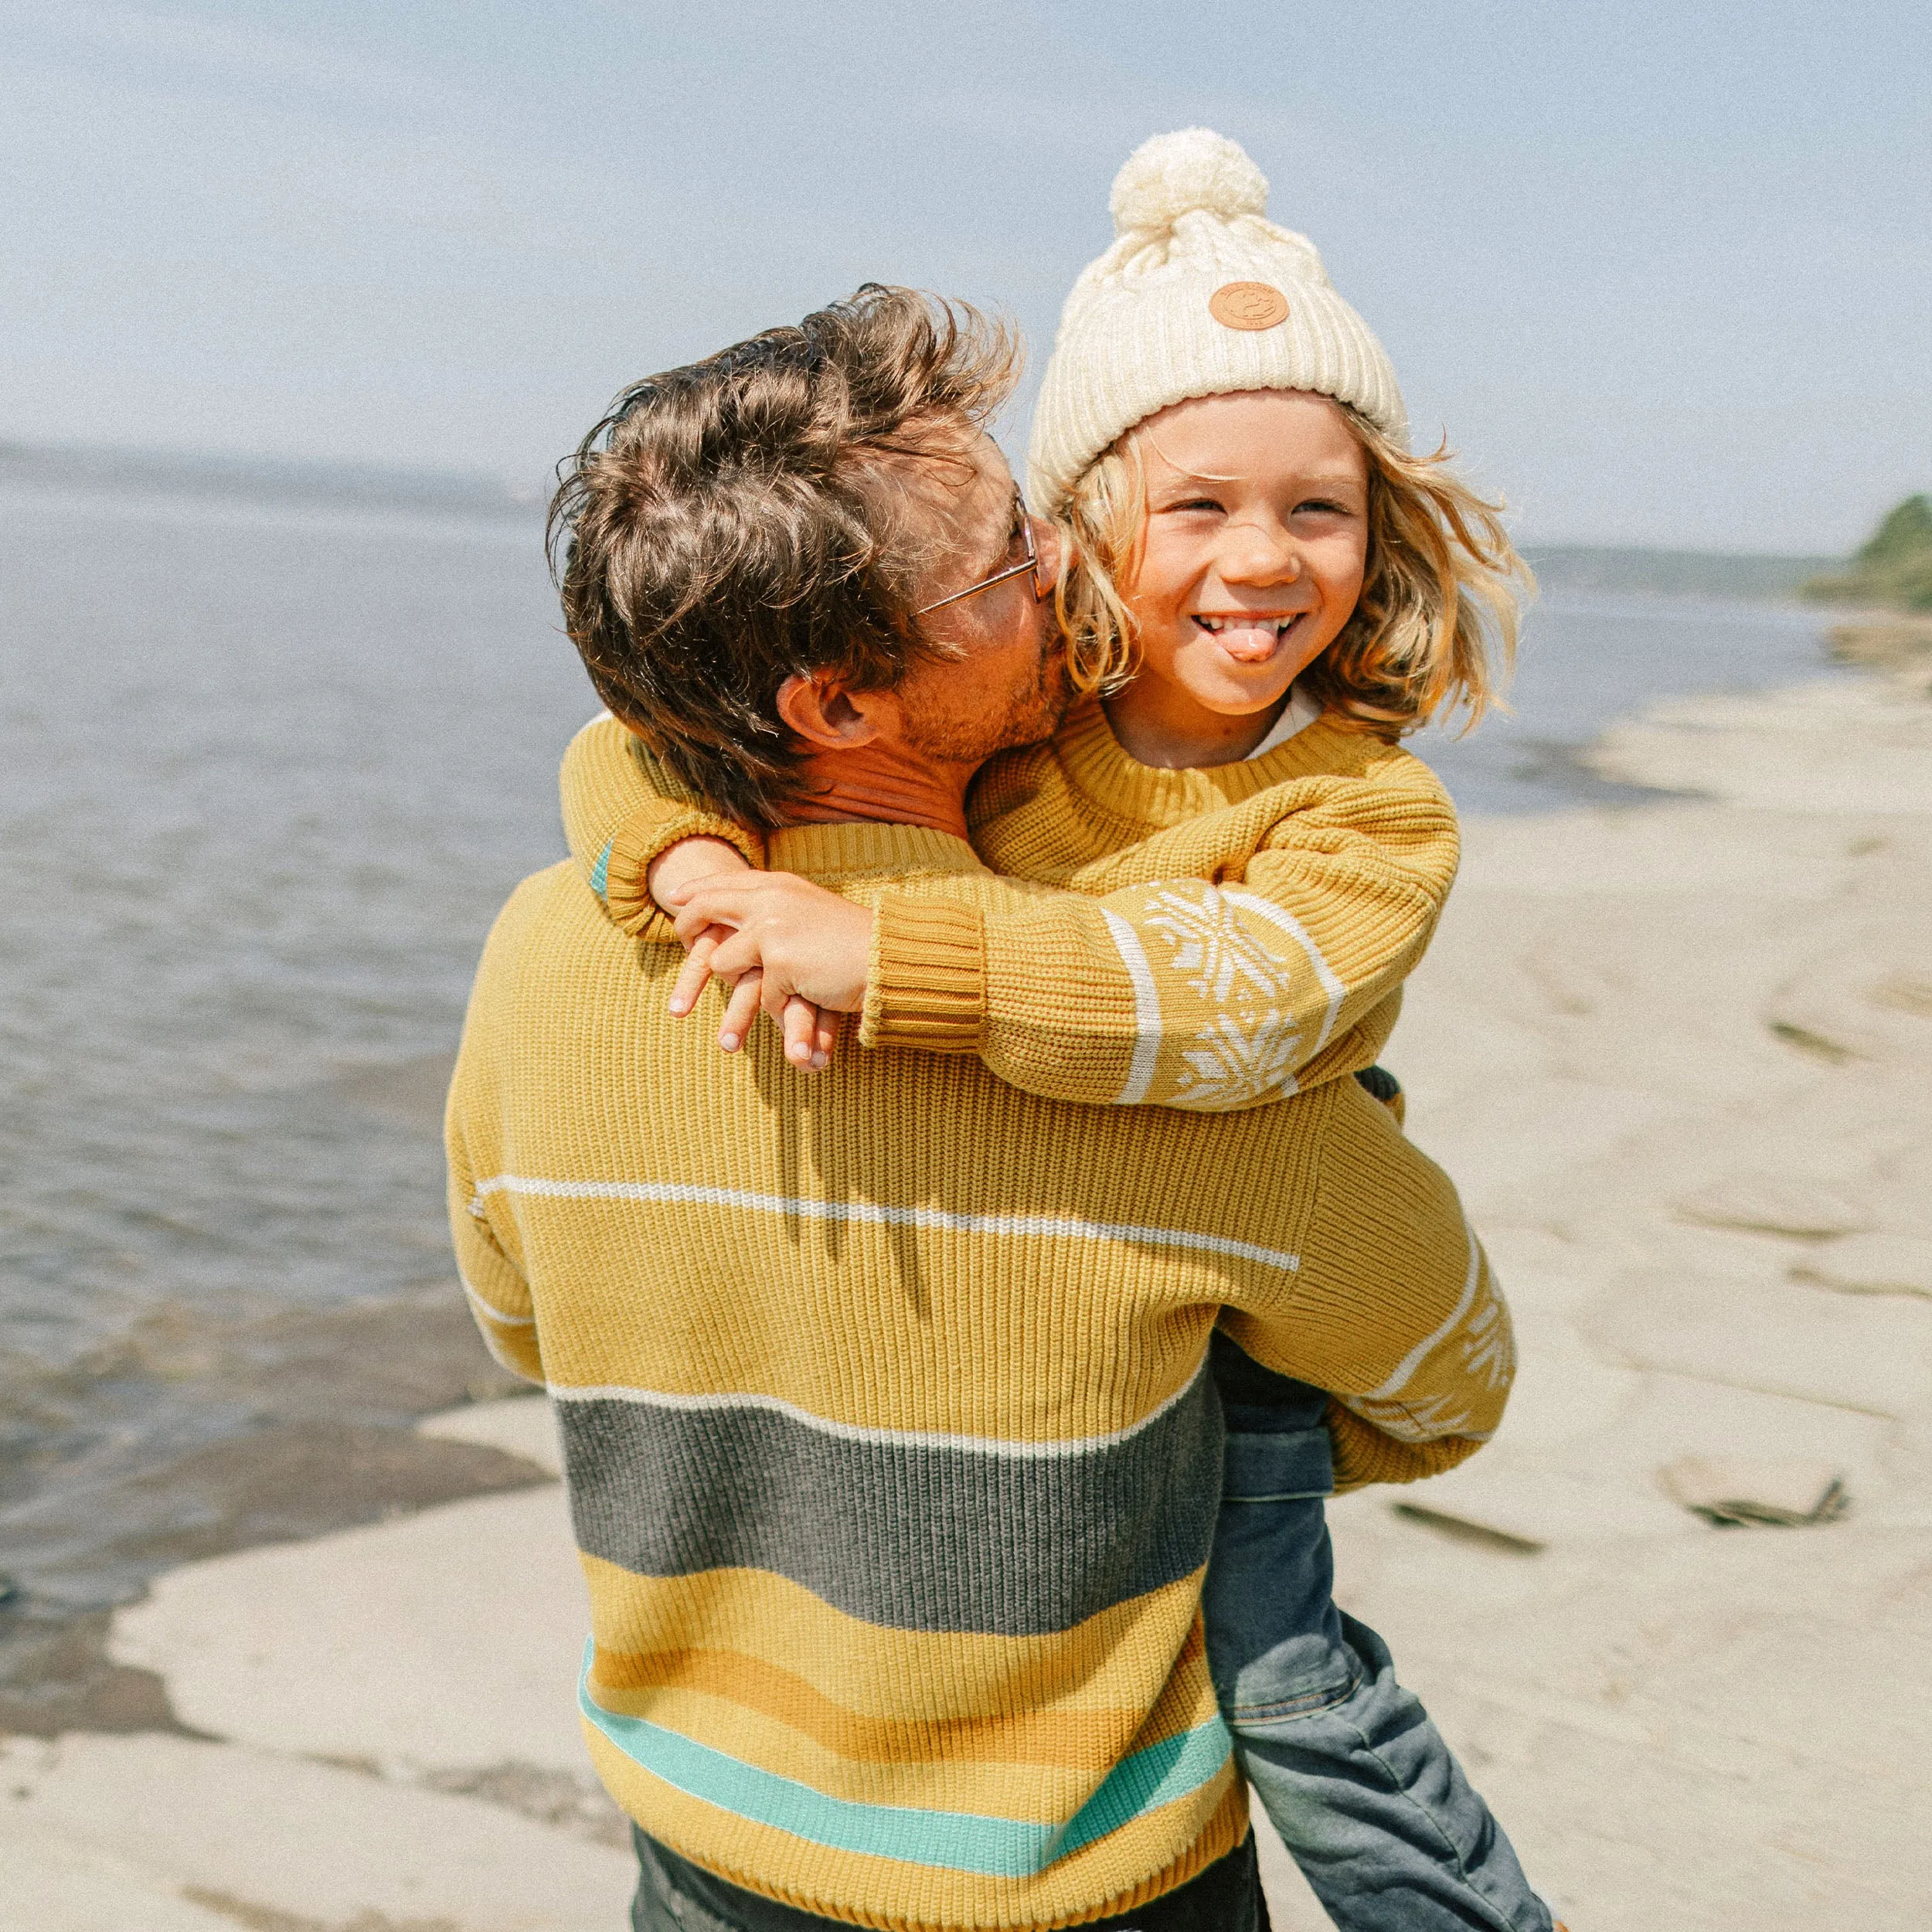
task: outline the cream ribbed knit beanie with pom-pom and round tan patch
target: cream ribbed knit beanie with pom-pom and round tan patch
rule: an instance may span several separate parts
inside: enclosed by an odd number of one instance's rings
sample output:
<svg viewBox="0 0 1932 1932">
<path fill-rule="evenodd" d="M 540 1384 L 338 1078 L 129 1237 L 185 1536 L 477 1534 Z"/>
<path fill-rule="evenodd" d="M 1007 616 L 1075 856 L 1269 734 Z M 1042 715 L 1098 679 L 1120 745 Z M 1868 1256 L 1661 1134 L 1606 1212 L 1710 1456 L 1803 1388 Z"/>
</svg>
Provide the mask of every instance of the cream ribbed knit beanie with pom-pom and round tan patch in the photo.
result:
<svg viewBox="0 0 1932 1932">
<path fill-rule="evenodd" d="M 1074 282 L 1034 412 L 1028 495 L 1057 510 L 1142 417 L 1188 396 L 1308 388 L 1408 435 L 1395 371 L 1316 245 L 1265 218 L 1267 176 L 1206 128 L 1157 133 L 1113 178 L 1115 243 Z"/>
</svg>

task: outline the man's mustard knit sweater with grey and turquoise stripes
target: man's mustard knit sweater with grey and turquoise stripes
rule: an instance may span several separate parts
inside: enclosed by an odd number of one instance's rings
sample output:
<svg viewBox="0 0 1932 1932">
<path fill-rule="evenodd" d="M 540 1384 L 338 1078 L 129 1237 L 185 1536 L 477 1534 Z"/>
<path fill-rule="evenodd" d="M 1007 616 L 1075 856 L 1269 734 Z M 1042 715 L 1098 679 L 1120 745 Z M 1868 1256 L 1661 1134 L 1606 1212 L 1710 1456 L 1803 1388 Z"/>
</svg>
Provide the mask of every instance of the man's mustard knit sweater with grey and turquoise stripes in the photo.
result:
<svg viewBox="0 0 1932 1932">
<path fill-rule="evenodd" d="M 1036 893 L 960 840 L 769 860 L 954 929 Z M 1343 1484 L 1447 1466 L 1509 1323 L 1447 1179 L 1352 1080 L 1221 1117 L 1068 1105 L 891 1039 L 819 1076 L 665 1009 L 576 866 L 485 951 L 458 1258 L 549 1383 L 589 1578 L 585 1735 L 721 1876 L 854 1924 L 1072 1924 L 1231 1849 L 1202 1654 L 1206 1349 L 1337 1391 Z"/>
</svg>

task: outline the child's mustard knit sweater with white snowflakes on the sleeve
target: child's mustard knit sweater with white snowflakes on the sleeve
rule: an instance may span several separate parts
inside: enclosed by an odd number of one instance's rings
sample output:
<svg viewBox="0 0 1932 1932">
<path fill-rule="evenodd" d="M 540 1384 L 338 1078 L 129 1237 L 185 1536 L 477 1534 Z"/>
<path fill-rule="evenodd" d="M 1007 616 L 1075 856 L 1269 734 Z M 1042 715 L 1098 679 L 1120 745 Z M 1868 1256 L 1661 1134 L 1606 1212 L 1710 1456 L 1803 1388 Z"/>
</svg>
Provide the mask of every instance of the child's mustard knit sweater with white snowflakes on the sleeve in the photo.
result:
<svg viewBox="0 0 1932 1932">
<path fill-rule="evenodd" d="M 1007 912 L 875 893 L 860 1039 L 978 1053 L 1030 1094 L 1211 1113 L 1368 1066 L 1455 881 L 1455 808 L 1420 759 L 1318 719 L 1273 752 L 1157 771 L 1097 707 L 995 759 L 970 800 L 985 864 L 1055 893 Z M 668 939 L 649 862 L 696 808 L 614 719 L 564 761 L 572 850 L 626 931 Z"/>
</svg>

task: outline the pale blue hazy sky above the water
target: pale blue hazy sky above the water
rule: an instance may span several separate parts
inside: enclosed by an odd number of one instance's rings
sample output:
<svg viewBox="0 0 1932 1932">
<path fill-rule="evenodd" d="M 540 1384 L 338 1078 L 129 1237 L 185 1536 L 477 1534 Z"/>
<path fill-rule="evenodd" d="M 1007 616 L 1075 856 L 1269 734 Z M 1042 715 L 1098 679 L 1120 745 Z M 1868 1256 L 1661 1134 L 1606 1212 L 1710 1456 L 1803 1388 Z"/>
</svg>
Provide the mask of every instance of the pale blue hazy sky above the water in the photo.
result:
<svg viewBox="0 0 1932 1932">
<path fill-rule="evenodd" d="M 1206 124 L 1528 539 L 1833 551 L 1932 487 L 1924 0 L 0 0 L 0 439 L 537 487 L 626 381 L 867 278 L 1043 357 L 1113 170 Z"/>
</svg>

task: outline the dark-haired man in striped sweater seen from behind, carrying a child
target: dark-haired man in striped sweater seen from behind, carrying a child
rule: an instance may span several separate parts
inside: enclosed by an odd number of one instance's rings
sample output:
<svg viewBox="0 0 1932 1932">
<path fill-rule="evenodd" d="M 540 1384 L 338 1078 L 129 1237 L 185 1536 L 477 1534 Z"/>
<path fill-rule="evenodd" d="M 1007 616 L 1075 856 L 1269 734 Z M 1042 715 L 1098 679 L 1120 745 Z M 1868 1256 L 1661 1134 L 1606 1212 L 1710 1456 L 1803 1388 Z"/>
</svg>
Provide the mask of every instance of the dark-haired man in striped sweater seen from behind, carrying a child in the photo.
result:
<svg viewBox="0 0 1932 1932">
<path fill-rule="evenodd" d="M 980 427 L 1010 377 L 970 315 L 866 290 L 639 384 L 558 506 L 572 638 L 663 765 L 941 927 L 1024 895 L 966 784 L 1065 707 Z M 636 1924 L 1254 1926 L 1208 1343 L 1225 1314 L 1368 1397 L 1501 1321 L 1453 1190 L 1352 1080 L 1219 1117 L 895 1047 L 802 1080 L 674 1020 L 676 968 L 574 867 L 526 881 L 450 1097 L 477 1320 L 558 1408 Z M 1403 1453 L 1337 1412 L 1341 1482 Z"/>
</svg>

